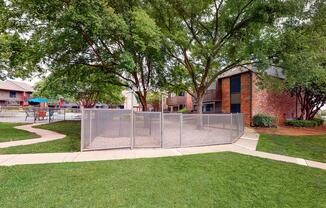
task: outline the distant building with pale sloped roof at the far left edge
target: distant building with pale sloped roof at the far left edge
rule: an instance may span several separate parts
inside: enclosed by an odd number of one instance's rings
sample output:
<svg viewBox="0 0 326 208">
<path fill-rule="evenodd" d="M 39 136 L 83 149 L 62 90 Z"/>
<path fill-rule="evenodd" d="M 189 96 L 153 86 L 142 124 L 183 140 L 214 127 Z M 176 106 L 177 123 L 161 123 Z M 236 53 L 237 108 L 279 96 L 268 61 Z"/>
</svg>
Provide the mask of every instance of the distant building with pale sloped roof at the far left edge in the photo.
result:
<svg viewBox="0 0 326 208">
<path fill-rule="evenodd" d="M 13 80 L 0 81 L 0 106 L 28 105 L 34 89 L 31 85 Z"/>
</svg>

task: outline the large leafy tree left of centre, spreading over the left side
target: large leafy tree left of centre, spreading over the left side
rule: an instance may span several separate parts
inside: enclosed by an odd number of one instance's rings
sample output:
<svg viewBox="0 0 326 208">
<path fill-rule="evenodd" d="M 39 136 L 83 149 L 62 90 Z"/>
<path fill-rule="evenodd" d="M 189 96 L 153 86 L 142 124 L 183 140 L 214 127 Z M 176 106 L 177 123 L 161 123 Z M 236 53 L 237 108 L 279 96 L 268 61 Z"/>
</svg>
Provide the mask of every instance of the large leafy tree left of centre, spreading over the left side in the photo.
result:
<svg viewBox="0 0 326 208">
<path fill-rule="evenodd" d="M 118 77 L 147 110 L 147 91 L 162 61 L 161 36 L 141 2 L 8 0 L 5 33 L 16 36 L 18 47 L 6 65 L 20 76 L 92 67 Z"/>
</svg>

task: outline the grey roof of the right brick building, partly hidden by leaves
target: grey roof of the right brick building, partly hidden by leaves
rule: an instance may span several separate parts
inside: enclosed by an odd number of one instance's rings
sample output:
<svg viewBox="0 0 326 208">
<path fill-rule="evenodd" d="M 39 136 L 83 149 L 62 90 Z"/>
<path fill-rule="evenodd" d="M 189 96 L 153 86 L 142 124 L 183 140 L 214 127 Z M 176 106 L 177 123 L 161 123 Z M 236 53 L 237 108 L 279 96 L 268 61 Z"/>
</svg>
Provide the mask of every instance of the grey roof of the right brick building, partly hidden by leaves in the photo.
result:
<svg viewBox="0 0 326 208">
<path fill-rule="evenodd" d="M 233 69 L 223 73 L 218 78 L 226 78 L 226 77 L 230 77 L 230 76 L 241 74 L 241 73 L 248 72 L 248 71 L 260 73 L 256 68 L 249 69 L 248 67 L 237 67 L 237 68 L 233 68 Z M 278 68 L 278 67 L 274 67 L 274 66 L 268 67 L 264 73 L 266 73 L 267 75 L 272 76 L 272 77 L 285 79 L 285 76 L 283 74 L 283 69 Z"/>
</svg>

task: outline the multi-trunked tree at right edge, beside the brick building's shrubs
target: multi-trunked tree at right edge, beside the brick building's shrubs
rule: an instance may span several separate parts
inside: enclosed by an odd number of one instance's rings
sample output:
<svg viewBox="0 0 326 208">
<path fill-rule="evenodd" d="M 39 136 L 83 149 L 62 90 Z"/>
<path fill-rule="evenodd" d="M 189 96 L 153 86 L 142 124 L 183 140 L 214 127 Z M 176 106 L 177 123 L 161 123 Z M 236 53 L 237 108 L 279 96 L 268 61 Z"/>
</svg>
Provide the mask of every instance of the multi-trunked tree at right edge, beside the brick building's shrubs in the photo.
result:
<svg viewBox="0 0 326 208">
<path fill-rule="evenodd" d="M 299 119 L 312 119 L 326 103 L 326 3 L 285 23 L 278 65 L 284 69 L 284 89 L 297 98 Z"/>
</svg>

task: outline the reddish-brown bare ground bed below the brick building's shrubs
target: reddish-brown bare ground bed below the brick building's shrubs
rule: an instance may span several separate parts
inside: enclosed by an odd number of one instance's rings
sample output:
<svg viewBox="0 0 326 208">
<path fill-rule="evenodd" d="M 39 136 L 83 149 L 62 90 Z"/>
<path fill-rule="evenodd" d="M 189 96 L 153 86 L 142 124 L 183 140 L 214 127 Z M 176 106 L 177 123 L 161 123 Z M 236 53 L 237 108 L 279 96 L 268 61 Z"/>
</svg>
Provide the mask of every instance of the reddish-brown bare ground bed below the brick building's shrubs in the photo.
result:
<svg viewBox="0 0 326 208">
<path fill-rule="evenodd" d="M 289 136 L 300 135 L 321 135 L 326 134 L 326 125 L 318 126 L 314 128 L 297 128 L 290 126 L 279 126 L 277 128 L 251 128 L 259 134 L 278 134 Z"/>
</svg>

